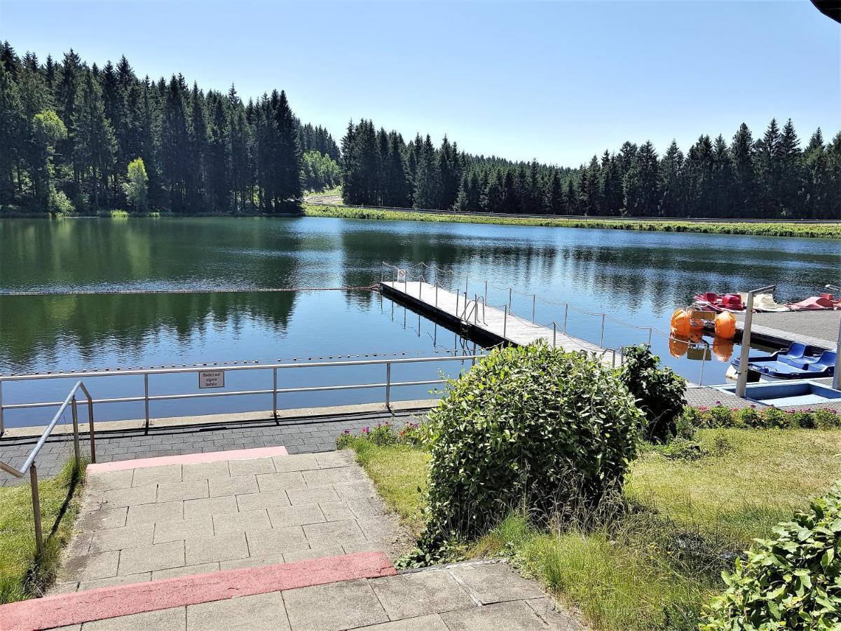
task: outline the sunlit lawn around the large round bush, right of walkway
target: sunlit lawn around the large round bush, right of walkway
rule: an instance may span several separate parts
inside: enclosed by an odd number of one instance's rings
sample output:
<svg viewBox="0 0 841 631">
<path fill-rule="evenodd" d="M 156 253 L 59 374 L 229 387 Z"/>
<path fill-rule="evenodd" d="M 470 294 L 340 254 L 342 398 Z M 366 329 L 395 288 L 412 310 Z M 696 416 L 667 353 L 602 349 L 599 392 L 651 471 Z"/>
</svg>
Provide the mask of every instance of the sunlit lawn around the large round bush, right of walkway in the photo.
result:
<svg viewBox="0 0 841 631">
<path fill-rule="evenodd" d="M 716 429 L 698 438 L 707 450 L 699 459 L 643 452 L 624 490 L 632 511 L 618 522 L 549 533 L 512 515 L 471 554 L 510 556 L 596 628 L 695 628 L 733 555 L 841 477 L 839 430 Z M 428 453 L 354 448 L 384 501 L 418 532 Z"/>
</svg>

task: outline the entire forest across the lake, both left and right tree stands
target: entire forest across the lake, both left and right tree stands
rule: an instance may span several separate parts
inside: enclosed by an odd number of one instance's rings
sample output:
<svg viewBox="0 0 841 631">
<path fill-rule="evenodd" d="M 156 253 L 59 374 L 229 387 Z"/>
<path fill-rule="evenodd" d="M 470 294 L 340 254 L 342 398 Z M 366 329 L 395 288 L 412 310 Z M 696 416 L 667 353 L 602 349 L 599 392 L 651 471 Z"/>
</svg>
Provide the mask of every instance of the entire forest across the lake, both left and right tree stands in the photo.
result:
<svg viewBox="0 0 841 631">
<path fill-rule="evenodd" d="M 734 106 L 737 107 L 737 106 Z M 788 120 L 754 138 L 701 135 L 684 153 L 626 142 L 578 168 L 460 151 L 348 125 L 341 152 L 285 93 L 243 103 L 180 74 L 136 77 L 122 57 L 41 63 L 0 45 L 0 204 L 177 213 L 282 212 L 341 183 L 347 204 L 594 216 L 841 219 L 841 132 L 805 148 Z"/>
</svg>

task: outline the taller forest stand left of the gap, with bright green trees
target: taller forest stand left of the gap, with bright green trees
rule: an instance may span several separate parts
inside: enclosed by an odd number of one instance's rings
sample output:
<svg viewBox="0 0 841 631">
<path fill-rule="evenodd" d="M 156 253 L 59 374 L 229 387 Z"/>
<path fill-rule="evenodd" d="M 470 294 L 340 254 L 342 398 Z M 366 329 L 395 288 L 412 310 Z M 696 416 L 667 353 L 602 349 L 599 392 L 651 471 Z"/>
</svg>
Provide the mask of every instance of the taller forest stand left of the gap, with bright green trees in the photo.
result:
<svg viewBox="0 0 841 631">
<path fill-rule="evenodd" d="M 278 212 L 304 183 L 335 186 L 339 148 L 286 94 L 243 103 L 180 74 L 136 77 L 125 57 L 87 66 L 0 47 L 0 204 L 61 213 Z"/>
</svg>

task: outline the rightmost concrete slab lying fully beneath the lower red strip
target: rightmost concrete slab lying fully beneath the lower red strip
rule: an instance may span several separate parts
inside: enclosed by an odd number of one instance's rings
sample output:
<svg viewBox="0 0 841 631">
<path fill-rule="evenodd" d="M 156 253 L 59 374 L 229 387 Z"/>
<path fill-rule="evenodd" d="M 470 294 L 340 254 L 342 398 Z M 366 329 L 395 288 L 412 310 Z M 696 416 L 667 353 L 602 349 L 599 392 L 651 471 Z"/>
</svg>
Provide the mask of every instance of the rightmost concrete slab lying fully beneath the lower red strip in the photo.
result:
<svg viewBox="0 0 841 631">
<path fill-rule="evenodd" d="M 294 631 L 341 631 L 389 621 L 362 579 L 285 591 L 283 602 Z"/>
</svg>

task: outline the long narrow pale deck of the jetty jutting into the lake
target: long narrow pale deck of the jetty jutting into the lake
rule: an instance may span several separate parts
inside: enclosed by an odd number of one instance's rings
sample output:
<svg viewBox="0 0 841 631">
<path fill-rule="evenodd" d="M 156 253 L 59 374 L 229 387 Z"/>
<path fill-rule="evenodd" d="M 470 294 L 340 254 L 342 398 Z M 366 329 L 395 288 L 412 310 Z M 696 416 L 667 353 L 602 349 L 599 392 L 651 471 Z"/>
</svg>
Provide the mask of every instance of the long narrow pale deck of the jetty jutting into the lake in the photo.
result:
<svg viewBox="0 0 841 631">
<path fill-rule="evenodd" d="M 539 339 L 553 347 L 568 352 L 596 353 L 605 363 L 616 365 L 621 361 L 620 353 L 613 348 L 603 348 L 571 337 L 558 330 L 557 325 L 542 326 L 509 313 L 508 307 L 500 309 L 486 305 L 481 296 L 471 300 L 463 294 L 444 289 L 438 284 L 422 281 L 381 281 L 380 289 L 391 298 L 412 305 L 413 308 L 433 321 L 451 326 L 457 331 L 467 329 L 465 337 L 481 339 L 489 345 L 500 343 L 526 346 Z"/>
</svg>

